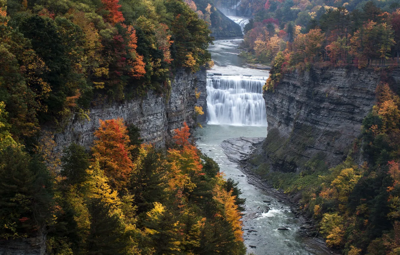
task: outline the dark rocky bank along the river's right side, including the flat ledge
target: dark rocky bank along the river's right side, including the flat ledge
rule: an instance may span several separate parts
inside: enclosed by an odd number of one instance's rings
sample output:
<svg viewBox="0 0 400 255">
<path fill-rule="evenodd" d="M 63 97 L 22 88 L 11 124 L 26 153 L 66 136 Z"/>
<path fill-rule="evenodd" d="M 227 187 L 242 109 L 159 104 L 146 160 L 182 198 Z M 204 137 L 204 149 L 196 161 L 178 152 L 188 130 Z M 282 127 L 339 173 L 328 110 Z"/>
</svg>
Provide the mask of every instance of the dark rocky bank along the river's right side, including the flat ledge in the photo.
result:
<svg viewBox="0 0 400 255">
<path fill-rule="evenodd" d="M 246 174 L 248 183 L 261 189 L 266 195 L 273 197 L 278 202 L 290 206 L 291 211 L 301 224 L 299 231 L 304 237 L 304 242 L 307 243 L 309 247 L 314 247 L 315 250 L 318 251 L 317 254 L 321 255 L 338 254 L 335 250 L 326 247 L 324 239 L 318 235 L 315 222 L 300 210 L 298 196 L 288 196 L 284 194 L 282 190 L 274 189 L 272 185 L 262 181 L 261 178 L 251 170 L 252 165 L 248 162 L 249 156 L 260 148 L 263 141 L 264 137 L 238 137 L 223 141 L 221 147 L 224 149 L 224 153 L 230 161 L 239 164 L 240 169 Z M 270 204 L 273 201 L 264 202 Z M 252 215 L 246 215 L 243 220 L 246 220 L 248 217 L 252 217 Z M 282 228 L 280 230 L 288 229 Z"/>
</svg>

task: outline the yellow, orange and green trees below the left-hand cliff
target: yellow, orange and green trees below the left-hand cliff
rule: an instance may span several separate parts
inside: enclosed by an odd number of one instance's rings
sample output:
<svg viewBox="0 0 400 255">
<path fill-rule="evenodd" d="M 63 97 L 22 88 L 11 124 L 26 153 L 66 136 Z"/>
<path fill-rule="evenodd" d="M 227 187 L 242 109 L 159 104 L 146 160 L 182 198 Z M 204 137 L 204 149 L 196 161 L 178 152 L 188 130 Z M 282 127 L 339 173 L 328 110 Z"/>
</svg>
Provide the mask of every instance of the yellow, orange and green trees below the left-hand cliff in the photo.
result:
<svg viewBox="0 0 400 255">
<path fill-rule="evenodd" d="M 241 192 L 190 143 L 186 123 L 166 153 L 135 134 L 122 119 L 100 121 L 92 153 L 72 143 L 54 171 L 3 126 L 1 238 L 46 231 L 47 253 L 60 255 L 244 255 Z"/>
</svg>

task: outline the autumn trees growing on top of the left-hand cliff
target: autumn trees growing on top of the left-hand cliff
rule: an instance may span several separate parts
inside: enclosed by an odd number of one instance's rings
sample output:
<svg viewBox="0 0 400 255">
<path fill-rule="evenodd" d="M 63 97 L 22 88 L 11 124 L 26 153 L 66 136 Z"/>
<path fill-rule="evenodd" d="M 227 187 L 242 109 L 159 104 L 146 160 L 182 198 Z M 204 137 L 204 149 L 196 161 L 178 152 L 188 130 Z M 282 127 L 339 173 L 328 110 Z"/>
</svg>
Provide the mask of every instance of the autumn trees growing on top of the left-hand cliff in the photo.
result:
<svg viewBox="0 0 400 255">
<path fill-rule="evenodd" d="M 210 61 L 208 25 L 179 0 L 0 1 L 0 102 L 15 139 L 96 99 L 170 89 Z"/>
</svg>

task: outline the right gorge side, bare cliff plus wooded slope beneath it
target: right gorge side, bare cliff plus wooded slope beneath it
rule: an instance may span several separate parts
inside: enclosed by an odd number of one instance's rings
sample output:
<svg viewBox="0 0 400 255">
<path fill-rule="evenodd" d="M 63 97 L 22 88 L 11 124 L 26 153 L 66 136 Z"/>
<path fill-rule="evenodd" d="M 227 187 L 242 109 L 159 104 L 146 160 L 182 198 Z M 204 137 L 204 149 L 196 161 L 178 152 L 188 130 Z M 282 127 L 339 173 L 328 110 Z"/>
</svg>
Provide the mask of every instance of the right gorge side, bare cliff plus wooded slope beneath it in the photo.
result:
<svg viewBox="0 0 400 255">
<path fill-rule="evenodd" d="M 400 69 L 285 73 L 264 91 L 268 136 L 247 163 L 343 254 L 398 249 Z"/>
</svg>

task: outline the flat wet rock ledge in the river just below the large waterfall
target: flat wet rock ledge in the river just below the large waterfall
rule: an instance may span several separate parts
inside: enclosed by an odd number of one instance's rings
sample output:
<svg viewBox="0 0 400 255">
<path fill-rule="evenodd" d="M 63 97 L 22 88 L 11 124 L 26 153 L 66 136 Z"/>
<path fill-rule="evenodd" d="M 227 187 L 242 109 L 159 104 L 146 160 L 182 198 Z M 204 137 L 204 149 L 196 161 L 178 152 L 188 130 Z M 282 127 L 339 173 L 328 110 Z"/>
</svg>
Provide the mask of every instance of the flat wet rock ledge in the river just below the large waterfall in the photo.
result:
<svg viewBox="0 0 400 255">
<path fill-rule="evenodd" d="M 265 137 L 238 137 L 222 141 L 221 147 L 228 159 L 232 162 L 240 163 L 255 149 L 255 145 L 262 143 Z"/>
</svg>

